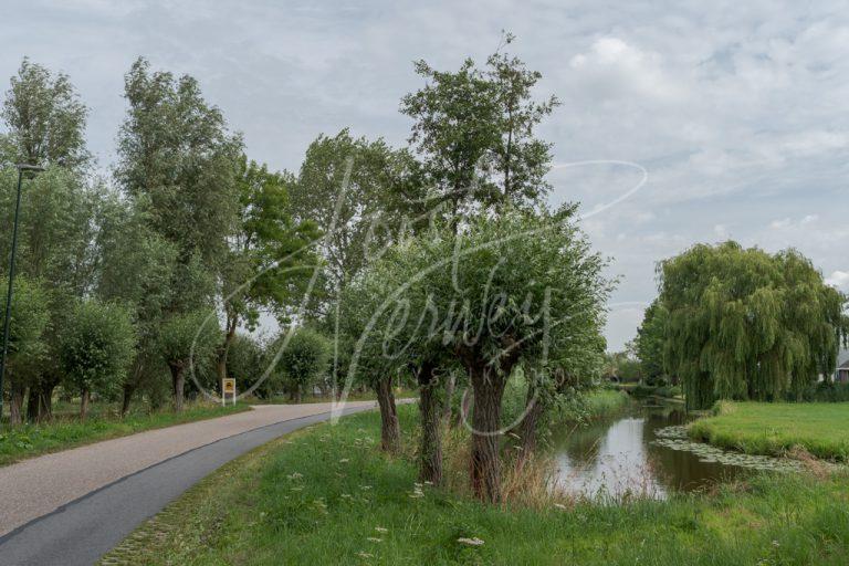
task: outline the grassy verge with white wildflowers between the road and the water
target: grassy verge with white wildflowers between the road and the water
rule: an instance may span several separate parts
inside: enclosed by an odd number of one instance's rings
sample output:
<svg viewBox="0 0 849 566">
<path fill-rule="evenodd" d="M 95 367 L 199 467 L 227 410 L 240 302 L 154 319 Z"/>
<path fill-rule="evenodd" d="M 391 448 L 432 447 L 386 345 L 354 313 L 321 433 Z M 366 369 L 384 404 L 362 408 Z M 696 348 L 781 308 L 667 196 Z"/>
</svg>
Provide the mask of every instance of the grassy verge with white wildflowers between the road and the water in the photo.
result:
<svg viewBox="0 0 849 566">
<path fill-rule="evenodd" d="M 410 442 L 416 408 L 399 412 Z M 374 412 L 279 439 L 189 490 L 104 564 L 845 565 L 849 556 L 846 475 L 503 510 L 427 485 L 418 496 L 415 464 L 381 454 L 378 440 Z"/>
</svg>

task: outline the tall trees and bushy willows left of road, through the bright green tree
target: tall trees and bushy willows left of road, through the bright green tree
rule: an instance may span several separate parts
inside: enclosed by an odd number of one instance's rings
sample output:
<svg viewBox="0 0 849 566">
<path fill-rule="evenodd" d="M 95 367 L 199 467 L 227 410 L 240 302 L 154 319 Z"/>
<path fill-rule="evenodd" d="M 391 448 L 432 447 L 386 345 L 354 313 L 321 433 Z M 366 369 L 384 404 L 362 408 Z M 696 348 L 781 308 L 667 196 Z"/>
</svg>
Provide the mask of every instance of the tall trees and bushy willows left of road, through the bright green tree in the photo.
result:
<svg viewBox="0 0 849 566">
<path fill-rule="evenodd" d="M 59 385 L 80 396 L 83 417 L 93 392 L 123 397 L 126 412 L 139 390 L 159 399 L 164 375 L 181 409 L 189 373 L 214 387 L 237 329 L 255 327 L 262 312 L 287 322 L 318 263 L 307 245 L 315 222 L 290 202 L 298 179 L 250 161 L 193 78 L 139 59 L 125 97 L 118 161 L 103 179 L 67 76 L 24 59 L 7 93 L 2 226 L 14 209 L 10 165 L 46 168 L 27 181 L 21 206 L 12 423 L 50 418 Z M 10 235 L 0 235 L 3 258 Z"/>
</svg>

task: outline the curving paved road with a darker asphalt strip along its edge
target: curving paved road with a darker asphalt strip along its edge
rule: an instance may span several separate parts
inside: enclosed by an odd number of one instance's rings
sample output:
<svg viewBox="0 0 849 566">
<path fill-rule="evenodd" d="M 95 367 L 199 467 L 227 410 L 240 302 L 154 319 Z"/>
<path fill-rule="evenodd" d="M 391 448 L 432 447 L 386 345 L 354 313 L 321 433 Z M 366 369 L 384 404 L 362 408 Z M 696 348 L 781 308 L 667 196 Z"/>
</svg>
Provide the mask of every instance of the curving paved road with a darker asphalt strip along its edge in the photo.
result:
<svg viewBox="0 0 849 566">
<path fill-rule="evenodd" d="M 349 402 L 345 413 L 375 406 Z M 0 565 L 90 565 L 219 467 L 327 411 L 263 406 L 0 469 Z"/>
</svg>

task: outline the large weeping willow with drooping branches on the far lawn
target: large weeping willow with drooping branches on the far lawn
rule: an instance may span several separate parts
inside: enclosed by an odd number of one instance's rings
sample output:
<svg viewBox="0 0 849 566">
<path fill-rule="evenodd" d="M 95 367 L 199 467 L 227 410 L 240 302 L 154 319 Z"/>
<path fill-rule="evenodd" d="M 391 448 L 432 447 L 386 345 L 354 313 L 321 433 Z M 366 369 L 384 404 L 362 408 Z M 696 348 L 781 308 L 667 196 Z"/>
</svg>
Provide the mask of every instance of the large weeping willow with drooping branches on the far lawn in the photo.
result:
<svg viewBox="0 0 849 566">
<path fill-rule="evenodd" d="M 664 358 L 688 408 L 798 398 L 837 363 L 847 298 L 795 250 L 699 244 L 663 261 Z"/>
</svg>

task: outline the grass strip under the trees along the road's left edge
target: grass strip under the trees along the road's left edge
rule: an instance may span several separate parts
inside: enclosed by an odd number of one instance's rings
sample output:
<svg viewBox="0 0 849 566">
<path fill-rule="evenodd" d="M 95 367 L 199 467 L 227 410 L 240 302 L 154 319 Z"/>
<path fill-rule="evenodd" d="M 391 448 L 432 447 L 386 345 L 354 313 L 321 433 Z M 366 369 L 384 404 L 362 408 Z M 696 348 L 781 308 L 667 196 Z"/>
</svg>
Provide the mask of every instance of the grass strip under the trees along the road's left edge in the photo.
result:
<svg viewBox="0 0 849 566">
<path fill-rule="evenodd" d="M 27 458 L 48 452 L 56 452 L 124 437 L 144 430 L 158 429 L 195 420 L 222 417 L 233 412 L 249 410 L 248 405 L 221 407 L 212 403 L 189 403 L 180 413 L 159 411 L 153 413 L 130 413 L 124 419 L 114 412 L 95 409 L 85 422 L 76 417 L 62 416 L 53 422 L 22 424 L 13 429 L 4 423 L 0 430 L 0 465 L 8 465 Z"/>
</svg>

